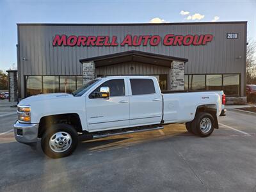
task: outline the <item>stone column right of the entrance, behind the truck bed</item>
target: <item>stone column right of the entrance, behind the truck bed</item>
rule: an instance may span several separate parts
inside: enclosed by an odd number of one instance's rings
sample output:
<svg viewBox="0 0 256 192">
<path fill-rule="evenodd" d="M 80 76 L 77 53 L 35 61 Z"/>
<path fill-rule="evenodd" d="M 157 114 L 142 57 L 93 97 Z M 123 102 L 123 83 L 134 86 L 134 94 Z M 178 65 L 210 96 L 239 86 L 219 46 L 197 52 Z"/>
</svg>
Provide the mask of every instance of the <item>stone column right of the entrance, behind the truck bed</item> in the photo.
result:
<svg viewBox="0 0 256 192">
<path fill-rule="evenodd" d="M 173 61 L 170 69 L 171 90 L 184 90 L 184 62 Z"/>
</svg>

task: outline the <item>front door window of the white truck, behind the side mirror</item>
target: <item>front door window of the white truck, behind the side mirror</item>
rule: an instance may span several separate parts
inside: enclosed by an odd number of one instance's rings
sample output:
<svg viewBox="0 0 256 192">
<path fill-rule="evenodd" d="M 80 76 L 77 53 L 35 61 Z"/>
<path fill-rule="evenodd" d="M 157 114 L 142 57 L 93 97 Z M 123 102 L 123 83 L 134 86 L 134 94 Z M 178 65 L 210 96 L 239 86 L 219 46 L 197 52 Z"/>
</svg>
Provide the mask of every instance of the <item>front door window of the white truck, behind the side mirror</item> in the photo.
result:
<svg viewBox="0 0 256 192">
<path fill-rule="evenodd" d="M 93 99 L 92 94 L 95 92 L 100 92 L 100 87 L 102 86 L 108 86 L 109 87 L 109 97 L 115 97 L 115 96 L 124 96 L 125 95 L 125 85 L 124 85 L 124 79 L 113 79 L 106 81 L 100 86 L 98 86 L 90 95 L 89 98 Z"/>
</svg>

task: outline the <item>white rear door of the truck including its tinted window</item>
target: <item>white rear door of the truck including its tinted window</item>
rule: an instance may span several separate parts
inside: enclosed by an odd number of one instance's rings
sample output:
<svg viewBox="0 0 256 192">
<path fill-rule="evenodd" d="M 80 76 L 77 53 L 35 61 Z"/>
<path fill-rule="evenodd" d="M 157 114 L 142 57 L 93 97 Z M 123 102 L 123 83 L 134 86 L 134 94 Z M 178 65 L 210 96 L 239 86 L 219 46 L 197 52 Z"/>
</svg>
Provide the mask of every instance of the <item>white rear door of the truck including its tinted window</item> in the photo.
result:
<svg viewBox="0 0 256 192">
<path fill-rule="evenodd" d="M 129 78 L 130 124 L 160 124 L 163 99 L 159 84 L 154 77 Z"/>
</svg>

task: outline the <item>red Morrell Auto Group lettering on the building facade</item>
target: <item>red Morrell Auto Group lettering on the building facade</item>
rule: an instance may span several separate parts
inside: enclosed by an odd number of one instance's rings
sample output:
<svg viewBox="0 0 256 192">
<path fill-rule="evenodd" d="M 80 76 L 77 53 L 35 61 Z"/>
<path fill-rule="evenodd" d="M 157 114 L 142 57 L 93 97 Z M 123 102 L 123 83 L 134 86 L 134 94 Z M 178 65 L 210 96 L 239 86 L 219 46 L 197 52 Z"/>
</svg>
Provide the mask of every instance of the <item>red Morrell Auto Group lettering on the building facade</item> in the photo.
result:
<svg viewBox="0 0 256 192">
<path fill-rule="evenodd" d="M 173 35 L 168 34 L 162 38 L 159 35 L 126 35 L 120 41 L 120 46 L 166 46 L 177 45 L 206 45 L 211 42 L 213 35 Z M 76 35 L 55 35 L 52 41 L 53 46 L 118 46 L 117 36 L 76 36 Z"/>
</svg>

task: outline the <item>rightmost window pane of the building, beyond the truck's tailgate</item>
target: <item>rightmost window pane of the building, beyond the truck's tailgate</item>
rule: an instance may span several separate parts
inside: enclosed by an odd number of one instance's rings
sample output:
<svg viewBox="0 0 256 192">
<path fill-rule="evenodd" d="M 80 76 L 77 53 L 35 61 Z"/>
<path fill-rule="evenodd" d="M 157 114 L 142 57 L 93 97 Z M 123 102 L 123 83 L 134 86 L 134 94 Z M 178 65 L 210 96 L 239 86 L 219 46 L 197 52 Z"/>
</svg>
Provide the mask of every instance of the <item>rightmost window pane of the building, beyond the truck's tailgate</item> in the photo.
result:
<svg viewBox="0 0 256 192">
<path fill-rule="evenodd" d="M 223 75 L 223 91 L 227 96 L 239 96 L 239 74 Z"/>
</svg>

